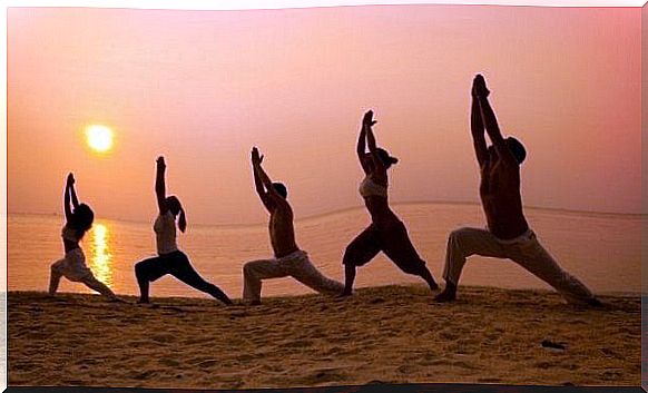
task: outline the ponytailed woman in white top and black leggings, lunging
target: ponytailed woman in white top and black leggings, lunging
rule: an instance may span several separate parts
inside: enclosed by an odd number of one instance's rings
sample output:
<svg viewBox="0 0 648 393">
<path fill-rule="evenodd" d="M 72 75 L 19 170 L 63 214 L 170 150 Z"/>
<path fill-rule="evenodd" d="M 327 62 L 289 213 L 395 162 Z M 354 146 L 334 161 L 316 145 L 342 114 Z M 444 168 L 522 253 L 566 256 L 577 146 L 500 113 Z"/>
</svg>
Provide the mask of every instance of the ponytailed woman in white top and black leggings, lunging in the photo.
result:
<svg viewBox="0 0 648 393">
<path fill-rule="evenodd" d="M 155 180 L 155 194 L 159 216 L 154 224 L 158 256 L 141 261 L 135 265 L 135 275 L 139 284 L 139 303 L 148 303 L 148 283 L 151 283 L 164 275 L 170 274 L 183 283 L 205 293 L 229 305 L 232 301 L 216 285 L 207 283 L 194 269 L 189 259 L 178 249 L 176 245 L 176 217 L 178 217 L 178 228 L 185 232 L 187 219 L 180 202 L 175 196 L 166 196 L 165 186 L 165 159 L 157 159 L 157 176 Z"/>
</svg>

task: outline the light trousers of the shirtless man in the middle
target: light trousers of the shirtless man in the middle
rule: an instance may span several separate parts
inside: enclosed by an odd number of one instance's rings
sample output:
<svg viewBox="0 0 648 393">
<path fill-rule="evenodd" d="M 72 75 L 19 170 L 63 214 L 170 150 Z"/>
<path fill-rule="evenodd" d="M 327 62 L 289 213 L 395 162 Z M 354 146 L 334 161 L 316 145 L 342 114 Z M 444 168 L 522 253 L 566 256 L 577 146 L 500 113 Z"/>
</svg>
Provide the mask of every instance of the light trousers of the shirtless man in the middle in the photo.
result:
<svg viewBox="0 0 648 393">
<path fill-rule="evenodd" d="M 324 276 L 308 261 L 308 255 L 296 250 L 282 258 L 248 262 L 243 266 L 243 298 L 261 301 L 262 279 L 293 277 L 307 287 L 323 294 L 340 294 L 344 284 Z"/>
</svg>

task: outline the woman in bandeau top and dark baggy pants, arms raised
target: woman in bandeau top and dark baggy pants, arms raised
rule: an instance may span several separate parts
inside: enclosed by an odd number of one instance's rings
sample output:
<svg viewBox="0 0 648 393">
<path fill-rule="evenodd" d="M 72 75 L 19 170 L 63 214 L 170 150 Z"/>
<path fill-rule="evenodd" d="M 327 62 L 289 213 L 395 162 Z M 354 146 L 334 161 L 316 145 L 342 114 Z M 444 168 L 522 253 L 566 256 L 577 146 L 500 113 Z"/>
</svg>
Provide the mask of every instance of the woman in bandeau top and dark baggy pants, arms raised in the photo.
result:
<svg viewBox="0 0 648 393">
<path fill-rule="evenodd" d="M 390 154 L 376 147 L 372 126 L 373 112 L 364 115 L 362 129 L 357 140 L 357 158 L 365 178 L 360 184 L 360 194 L 371 214 L 372 223 L 364 229 L 344 253 L 343 264 L 345 273 L 345 286 L 343 296 L 350 296 L 353 291 L 356 266 L 362 266 L 373 259 L 377 253 L 385 255 L 404 273 L 423 278 L 431 291 L 439 288 L 432 274 L 421 259 L 408 235 L 403 222 L 392 212 L 387 202 L 387 169 L 399 160 Z M 365 153 L 365 145 L 369 151 Z"/>
</svg>

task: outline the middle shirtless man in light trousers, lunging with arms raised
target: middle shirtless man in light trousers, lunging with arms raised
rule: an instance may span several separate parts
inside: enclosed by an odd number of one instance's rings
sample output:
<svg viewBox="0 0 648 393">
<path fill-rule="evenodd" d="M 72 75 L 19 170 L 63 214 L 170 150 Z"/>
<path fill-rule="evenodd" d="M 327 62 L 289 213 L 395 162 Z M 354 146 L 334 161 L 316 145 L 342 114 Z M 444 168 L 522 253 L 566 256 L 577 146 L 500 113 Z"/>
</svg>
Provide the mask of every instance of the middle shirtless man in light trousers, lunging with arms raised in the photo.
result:
<svg viewBox="0 0 648 393">
<path fill-rule="evenodd" d="M 336 295 L 344 289 L 344 285 L 326 278 L 308 261 L 308 255 L 301 250 L 295 243 L 293 226 L 293 209 L 286 200 L 287 190 L 281 183 L 273 183 L 261 164 L 257 148 L 252 149 L 252 167 L 254 184 L 261 202 L 269 212 L 269 235 L 275 257 L 248 262 L 243 266 L 243 298 L 251 304 L 261 304 L 262 279 L 291 276 L 312 289 Z"/>
</svg>

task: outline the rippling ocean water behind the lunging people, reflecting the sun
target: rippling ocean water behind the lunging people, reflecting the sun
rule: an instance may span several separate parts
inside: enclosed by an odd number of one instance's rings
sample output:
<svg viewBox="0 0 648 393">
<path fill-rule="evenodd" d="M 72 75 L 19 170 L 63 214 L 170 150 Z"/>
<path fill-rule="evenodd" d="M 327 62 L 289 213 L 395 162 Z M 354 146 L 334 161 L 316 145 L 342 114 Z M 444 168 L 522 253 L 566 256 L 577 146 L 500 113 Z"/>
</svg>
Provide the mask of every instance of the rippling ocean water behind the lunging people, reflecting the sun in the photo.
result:
<svg viewBox="0 0 648 393">
<path fill-rule="evenodd" d="M 400 204 L 394 210 L 409 228 L 412 242 L 442 282 L 448 234 L 460 226 L 484 226 L 479 205 Z M 118 294 L 137 295 L 134 265 L 155 255 L 151 223 L 96 219 L 82 240 L 87 264 L 97 278 Z M 540 242 L 559 263 L 597 293 L 641 291 L 641 216 L 527 209 L 527 218 Z M 370 218 L 363 208 L 301 219 L 295 223 L 297 244 L 324 274 L 344 279 L 342 255 L 346 245 Z M 47 291 L 49 266 L 63 255 L 60 216 L 10 214 L 8 216 L 9 291 Z M 247 261 L 272 257 L 265 225 L 197 226 L 178 230 L 178 245 L 207 281 L 230 297 L 242 295 L 242 267 Z M 361 267 L 356 287 L 422 283 L 399 271 L 380 254 Z M 464 268 L 462 285 L 504 288 L 548 288 L 510 261 L 473 256 Z M 90 293 L 82 284 L 65 278 L 59 291 Z M 264 282 L 264 295 L 294 295 L 311 289 L 291 278 Z M 151 296 L 207 297 L 171 276 L 151 285 Z"/>
</svg>

